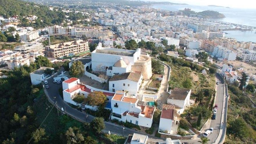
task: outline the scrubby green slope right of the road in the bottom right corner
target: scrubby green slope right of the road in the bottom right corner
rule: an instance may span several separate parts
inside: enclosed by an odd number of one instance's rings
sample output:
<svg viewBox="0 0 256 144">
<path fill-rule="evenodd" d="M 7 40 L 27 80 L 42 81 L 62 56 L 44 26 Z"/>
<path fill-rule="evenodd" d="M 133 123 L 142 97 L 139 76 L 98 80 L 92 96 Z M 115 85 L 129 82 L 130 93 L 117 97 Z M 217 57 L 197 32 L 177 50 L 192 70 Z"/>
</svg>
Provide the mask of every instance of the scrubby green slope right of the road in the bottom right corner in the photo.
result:
<svg viewBox="0 0 256 144">
<path fill-rule="evenodd" d="M 242 144 L 256 142 L 256 111 L 252 107 L 251 93 L 242 92 L 235 84 L 228 85 L 227 134 L 225 143 Z"/>
</svg>

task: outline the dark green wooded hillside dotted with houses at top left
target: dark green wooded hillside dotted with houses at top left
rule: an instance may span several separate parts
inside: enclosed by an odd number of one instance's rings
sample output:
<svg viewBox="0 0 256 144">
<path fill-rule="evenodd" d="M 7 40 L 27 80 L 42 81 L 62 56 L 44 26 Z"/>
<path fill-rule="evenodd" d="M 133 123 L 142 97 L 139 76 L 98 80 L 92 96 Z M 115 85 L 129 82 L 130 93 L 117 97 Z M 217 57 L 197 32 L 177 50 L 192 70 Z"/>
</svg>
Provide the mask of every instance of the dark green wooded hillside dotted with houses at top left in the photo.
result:
<svg viewBox="0 0 256 144">
<path fill-rule="evenodd" d="M 0 0 L 0 3 L 0 15 L 3 15 L 5 18 L 18 15 L 22 26 L 40 28 L 54 24 L 61 24 L 65 20 L 65 13 L 61 10 L 51 11 L 47 6 L 20 0 Z M 24 16 L 29 15 L 35 15 L 38 17 L 35 23 L 28 23 L 27 19 L 23 18 Z M 69 13 L 68 15 L 72 15 L 72 20 L 84 17 L 81 14 L 74 15 L 74 13 Z"/>
</svg>

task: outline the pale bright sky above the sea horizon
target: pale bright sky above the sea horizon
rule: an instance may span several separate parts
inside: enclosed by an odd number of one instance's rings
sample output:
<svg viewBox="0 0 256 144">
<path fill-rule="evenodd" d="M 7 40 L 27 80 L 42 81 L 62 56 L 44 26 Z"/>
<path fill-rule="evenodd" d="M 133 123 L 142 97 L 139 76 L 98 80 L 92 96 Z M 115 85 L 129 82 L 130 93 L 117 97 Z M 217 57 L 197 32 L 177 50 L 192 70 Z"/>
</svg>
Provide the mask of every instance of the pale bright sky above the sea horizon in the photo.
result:
<svg viewBox="0 0 256 144">
<path fill-rule="evenodd" d="M 231 8 L 253 8 L 256 9 L 255 0 L 143 0 L 143 1 L 169 1 L 173 3 L 187 3 L 198 6 L 225 6 Z"/>
</svg>

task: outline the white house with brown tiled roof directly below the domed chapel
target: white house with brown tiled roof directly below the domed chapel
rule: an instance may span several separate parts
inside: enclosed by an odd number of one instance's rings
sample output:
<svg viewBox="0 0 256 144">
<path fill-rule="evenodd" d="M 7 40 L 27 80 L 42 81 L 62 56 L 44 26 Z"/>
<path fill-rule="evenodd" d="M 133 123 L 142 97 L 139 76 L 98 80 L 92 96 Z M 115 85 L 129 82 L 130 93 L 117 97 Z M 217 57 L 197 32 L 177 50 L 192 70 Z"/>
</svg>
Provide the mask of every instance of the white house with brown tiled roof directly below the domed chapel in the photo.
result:
<svg viewBox="0 0 256 144">
<path fill-rule="evenodd" d="M 109 91 L 126 91 L 136 94 L 141 86 L 143 76 L 141 72 L 126 72 L 114 75 L 109 80 Z"/>
</svg>

